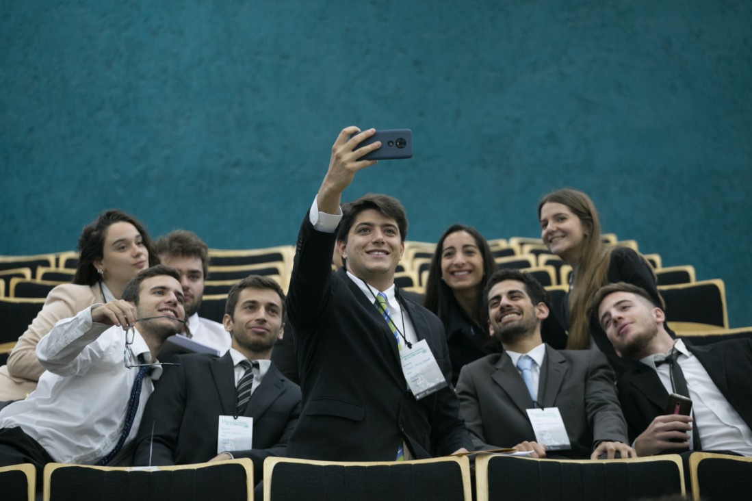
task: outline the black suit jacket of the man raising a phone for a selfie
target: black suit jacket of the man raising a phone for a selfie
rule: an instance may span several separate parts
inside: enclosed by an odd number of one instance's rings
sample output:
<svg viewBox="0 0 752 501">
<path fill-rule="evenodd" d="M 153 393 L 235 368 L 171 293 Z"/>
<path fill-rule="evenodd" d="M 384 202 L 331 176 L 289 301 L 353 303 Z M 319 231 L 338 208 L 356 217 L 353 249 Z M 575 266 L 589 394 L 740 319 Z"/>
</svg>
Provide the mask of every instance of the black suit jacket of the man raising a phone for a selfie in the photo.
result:
<svg viewBox="0 0 752 501">
<path fill-rule="evenodd" d="M 334 243 L 335 234 L 316 231 L 306 214 L 287 296 L 303 392 L 288 455 L 394 460 L 403 441 L 416 458 L 471 448 L 452 387 L 419 401 L 408 390 L 394 335 L 374 299 L 344 269 L 332 272 Z M 441 321 L 399 291 L 397 297 L 450 381 Z"/>
</svg>

